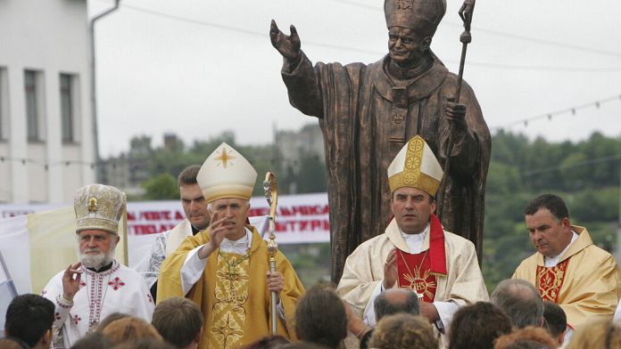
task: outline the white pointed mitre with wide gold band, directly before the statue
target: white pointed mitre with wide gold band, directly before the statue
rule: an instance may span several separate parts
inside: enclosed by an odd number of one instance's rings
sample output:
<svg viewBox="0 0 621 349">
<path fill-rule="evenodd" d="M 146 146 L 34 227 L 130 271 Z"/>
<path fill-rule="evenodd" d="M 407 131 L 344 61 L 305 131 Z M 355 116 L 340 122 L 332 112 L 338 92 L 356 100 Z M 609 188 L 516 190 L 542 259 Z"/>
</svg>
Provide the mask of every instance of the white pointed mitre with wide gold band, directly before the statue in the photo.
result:
<svg viewBox="0 0 621 349">
<path fill-rule="evenodd" d="M 417 135 L 410 139 L 388 166 L 390 192 L 402 187 L 418 188 L 435 197 L 444 172 L 434 152 Z"/>
</svg>

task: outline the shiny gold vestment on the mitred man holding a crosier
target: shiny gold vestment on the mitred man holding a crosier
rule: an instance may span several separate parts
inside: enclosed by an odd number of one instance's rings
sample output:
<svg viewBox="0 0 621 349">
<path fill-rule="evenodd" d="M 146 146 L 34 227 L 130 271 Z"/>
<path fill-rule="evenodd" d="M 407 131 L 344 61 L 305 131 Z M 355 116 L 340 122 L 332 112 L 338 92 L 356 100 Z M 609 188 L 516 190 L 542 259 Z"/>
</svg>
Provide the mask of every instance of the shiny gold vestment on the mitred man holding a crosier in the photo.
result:
<svg viewBox="0 0 621 349">
<path fill-rule="evenodd" d="M 253 231 L 250 255 L 225 255 L 215 250 L 208 257 L 203 276 L 185 295 L 201 307 L 205 317 L 199 348 L 238 348 L 271 334 L 270 292 L 266 286 L 267 243 L 253 226 L 246 227 Z M 157 290 L 158 303 L 172 296 L 184 296 L 181 267 L 191 250 L 207 242 L 209 229 L 187 237 L 177 251 L 164 260 Z M 294 339 L 295 306 L 304 288 L 293 266 L 280 251 L 276 256 L 276 270 L 285 278 L 280 302 L 286 323 L 278 320 L 278 335 Z"/>
</svg>

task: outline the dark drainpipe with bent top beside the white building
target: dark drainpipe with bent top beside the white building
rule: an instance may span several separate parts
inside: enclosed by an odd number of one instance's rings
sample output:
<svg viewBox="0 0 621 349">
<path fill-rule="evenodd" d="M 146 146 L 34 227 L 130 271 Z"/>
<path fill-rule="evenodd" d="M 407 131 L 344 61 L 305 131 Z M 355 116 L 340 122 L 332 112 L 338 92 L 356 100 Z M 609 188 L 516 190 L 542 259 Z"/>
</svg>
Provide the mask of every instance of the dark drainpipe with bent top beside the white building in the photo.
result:
<svg viewBox="0 0 621 349">
<path fill-rule="evenodd" d="M 101 159 L 99 158 L 99 133 L 97 130 L 97 87 L 95 69 L 95 21 L 102 19 L 104 16 L 119 9 L 120 0 L 114 0 L 114 5 L 108 10 L 97 14 L 88 21 L 88 34 L 90 37 L 90 73 L 91 73 L 91 124 L 93 131 L 94 155 L 95 155 L 95 181 L 100 182 L 102 176 Z"/>
</svg>

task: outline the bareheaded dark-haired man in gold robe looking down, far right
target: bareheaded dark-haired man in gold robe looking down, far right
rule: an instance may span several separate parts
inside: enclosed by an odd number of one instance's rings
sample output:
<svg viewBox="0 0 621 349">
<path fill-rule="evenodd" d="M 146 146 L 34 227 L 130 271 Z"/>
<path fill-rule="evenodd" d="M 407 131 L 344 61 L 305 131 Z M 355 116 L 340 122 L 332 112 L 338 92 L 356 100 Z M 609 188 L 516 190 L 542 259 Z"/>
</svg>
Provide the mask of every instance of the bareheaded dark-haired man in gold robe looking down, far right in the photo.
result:
<svg viewBox="0 0 621 349">
<path fill-rule="evenodd" d="M 567 324 L 612 319 L 621 296 L 621 272 L 608 252 L 593 244 L 586 228 L 571 225 L 563 199 L 543 194 L 524 210 L 536 252 L 517 267 L 513 278 L 527 280 L 543 300 L 559 304 Z"/>
</svg>

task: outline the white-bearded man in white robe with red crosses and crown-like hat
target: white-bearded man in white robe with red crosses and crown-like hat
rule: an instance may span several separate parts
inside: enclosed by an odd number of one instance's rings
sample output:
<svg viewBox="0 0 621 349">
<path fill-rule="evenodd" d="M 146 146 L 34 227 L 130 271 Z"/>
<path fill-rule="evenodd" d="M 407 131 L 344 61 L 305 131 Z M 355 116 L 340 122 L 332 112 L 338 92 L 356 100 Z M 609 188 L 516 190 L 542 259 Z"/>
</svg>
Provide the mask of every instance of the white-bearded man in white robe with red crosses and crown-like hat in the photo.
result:
<svg viewBox="0 0 621 349">
<path fill-rule="evenodd" d="M 145 280 L 114 259 L 125 205 L 124 194 L 107 185 L 87 185 L 76 194 L 79 263 L 56 274 L 42 292 L 56 308 L 55 348 L 70 348 L 112 312 L 151 321 L 154 304 Z"/>
</svg>

